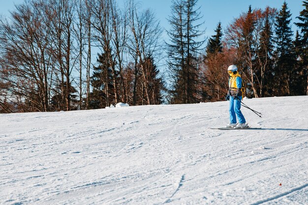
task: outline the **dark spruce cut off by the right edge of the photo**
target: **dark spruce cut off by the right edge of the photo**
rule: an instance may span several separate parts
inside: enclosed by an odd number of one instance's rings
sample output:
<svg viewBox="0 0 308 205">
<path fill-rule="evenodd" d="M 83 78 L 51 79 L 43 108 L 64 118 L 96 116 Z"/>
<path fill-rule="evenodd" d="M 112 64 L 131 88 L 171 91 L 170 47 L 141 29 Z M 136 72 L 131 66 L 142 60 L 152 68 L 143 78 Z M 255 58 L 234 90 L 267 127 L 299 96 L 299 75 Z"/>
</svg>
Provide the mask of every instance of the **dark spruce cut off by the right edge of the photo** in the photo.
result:
<svg viewBox="0 0 308 205">
<path fill-rule="evenodd" d="M 298 28 L 301 29 L 302 39 L 299 43 L 299 51 L 300 53 L 300 59 L 301 59 L 301 66 L 303 68 L 303 78 L 304 78 L 304 88 L 305 93 L 308 95 L 308 1 L 303 1 L 303 6 L 305 7 L 301 12 L 300 16 L 296 17 L 301 22 L 295 23 Z"/>
</svg>

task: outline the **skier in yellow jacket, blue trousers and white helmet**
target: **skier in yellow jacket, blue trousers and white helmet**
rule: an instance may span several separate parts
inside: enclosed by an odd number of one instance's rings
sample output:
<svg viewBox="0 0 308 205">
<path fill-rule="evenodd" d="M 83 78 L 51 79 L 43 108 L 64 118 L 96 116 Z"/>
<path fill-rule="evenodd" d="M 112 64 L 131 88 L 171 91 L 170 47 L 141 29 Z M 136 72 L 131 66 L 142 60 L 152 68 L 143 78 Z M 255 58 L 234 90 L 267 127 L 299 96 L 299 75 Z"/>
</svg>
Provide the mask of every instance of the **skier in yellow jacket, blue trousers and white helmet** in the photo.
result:
<svg viewBox="0 0 308 205">
<path fill-rule="evenodd" d="M 242 100 L 242 78 L 238 73 L 238 68 L 235 65 L 230 65 L 228 67 L 229 78 L 229 91 L 226 96 L 226 100 L 230 100 L 229 113 L 230 113 L 230 123 L 227 127 L 243 128 L 248 127 L 246 125 L 245 117 L 241 112 L 241 100 Z M 236 123 L 236 116 L 239 123 Z"/>
</svg>

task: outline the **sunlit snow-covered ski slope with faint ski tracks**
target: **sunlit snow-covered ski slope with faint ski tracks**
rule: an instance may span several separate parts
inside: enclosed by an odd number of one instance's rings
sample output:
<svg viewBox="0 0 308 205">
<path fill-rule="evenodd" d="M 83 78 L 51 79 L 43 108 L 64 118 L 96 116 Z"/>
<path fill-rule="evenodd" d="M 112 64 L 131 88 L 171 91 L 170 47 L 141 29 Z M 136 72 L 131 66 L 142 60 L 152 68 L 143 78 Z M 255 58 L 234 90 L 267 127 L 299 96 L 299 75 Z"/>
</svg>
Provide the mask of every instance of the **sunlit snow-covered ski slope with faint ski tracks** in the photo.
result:
<svg viewBox="0 0 308 205">
<path fill-rule="evenodd" d="M 308 96 L 244 103 L 2 114 L 0 204 L 308 205 Z"/>
</svg>

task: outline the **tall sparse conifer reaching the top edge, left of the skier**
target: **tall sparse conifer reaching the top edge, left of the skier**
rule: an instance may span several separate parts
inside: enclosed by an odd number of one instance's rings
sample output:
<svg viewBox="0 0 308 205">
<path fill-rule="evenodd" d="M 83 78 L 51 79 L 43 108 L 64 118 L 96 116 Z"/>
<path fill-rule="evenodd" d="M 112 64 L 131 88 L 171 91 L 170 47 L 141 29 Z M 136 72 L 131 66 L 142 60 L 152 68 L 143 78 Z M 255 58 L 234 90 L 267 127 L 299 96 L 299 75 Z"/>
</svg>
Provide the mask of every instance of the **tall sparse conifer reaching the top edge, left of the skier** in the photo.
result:
<svg viewBox="0 0 308 205">
<path fill-rule="evenodd" d="M 197 55 L 204 41 L 197 39 L 203 34 L 197 24 L 200 20 L 198 0 L 173 0 L 172 16 L 168 31 L 171 43 L 167 43 L 168 66 L 172 82 L 171 99 L 176 103 L 195 103 L 197 99 L 198 63 Z"/>
</svg>

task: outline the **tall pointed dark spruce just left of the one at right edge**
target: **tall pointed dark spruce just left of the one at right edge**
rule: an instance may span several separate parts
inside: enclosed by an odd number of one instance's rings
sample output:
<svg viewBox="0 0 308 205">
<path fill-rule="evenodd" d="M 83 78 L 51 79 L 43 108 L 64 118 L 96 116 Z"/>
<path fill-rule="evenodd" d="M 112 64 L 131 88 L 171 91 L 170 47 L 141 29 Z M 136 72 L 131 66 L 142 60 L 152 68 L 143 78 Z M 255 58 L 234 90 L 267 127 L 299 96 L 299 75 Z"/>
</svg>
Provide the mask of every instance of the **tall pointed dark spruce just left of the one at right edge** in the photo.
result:
<svg viewBox="0 0 308 205">
<path fill-rule="evenodd" d="M 295 55 L 292 51 L 291 13 L 284 1 L 275 23 L 275 82 L 277 96 L 290 95 L 291 78 L 295 63 Z"/>
</svg>

